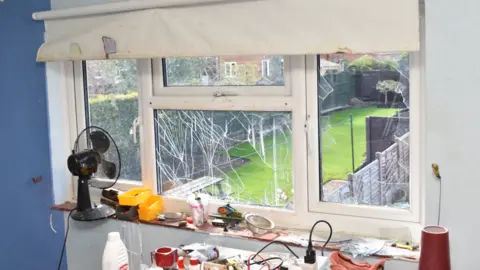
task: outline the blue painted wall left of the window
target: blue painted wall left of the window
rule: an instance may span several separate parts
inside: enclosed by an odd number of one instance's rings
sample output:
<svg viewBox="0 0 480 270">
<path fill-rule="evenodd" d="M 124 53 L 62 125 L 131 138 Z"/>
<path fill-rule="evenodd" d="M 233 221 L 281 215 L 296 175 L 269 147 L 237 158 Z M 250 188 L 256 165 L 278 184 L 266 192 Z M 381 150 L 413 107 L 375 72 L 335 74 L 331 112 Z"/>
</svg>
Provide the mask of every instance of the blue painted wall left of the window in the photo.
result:
<svg viewBox="0 0 480 270">
<path fill-rule="evenodd" d="M 35 62 L 44 25 L 31 16 L 47 9 L 49 0 L 0 2 L 0 269 L 56 269 L 63 244 L 62 214 L 49 210 L 45 65 Z"/>
</svg>

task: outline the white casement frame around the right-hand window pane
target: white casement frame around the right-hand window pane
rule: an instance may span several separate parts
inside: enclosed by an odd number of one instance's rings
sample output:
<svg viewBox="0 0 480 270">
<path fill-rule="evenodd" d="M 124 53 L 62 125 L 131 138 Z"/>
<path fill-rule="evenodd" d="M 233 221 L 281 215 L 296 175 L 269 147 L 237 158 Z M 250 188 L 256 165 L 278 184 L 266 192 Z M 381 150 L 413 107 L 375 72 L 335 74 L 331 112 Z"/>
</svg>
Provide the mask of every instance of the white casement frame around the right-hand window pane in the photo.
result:
<svg viewBox="0 0 480 270">
<path fill-rule="evenodd" d="M 313 68 L 315 67 L 315 68 Z M 311 56 L 307 62 L 307 96 L 314 97 L 317 92 L 317 57 Z M 422 98 L 421 98 L 421 62 L 420 53 L 411 52 L 409 58 L 409 82 L 410 82 L 410 208 L 396 209 L 393 207 L 381 207 L 370 205 L 341 204 L 320 201 L 319 174 L 319 145 L 321 140 L 318 134 L 318 125 L 308 125 L 309 159 L 309 210 L 316 213 L 336 214 L 346 216 L 367 217 L 376 219 L 388 219 L 392 221 L 420 222 L 421 207 L 421 161 L 423 149 L 422 138 Z M 307 101 L 307 115 L 309 123 L 319 123 L 318 98 L 309 98 Z"/>
</svg>

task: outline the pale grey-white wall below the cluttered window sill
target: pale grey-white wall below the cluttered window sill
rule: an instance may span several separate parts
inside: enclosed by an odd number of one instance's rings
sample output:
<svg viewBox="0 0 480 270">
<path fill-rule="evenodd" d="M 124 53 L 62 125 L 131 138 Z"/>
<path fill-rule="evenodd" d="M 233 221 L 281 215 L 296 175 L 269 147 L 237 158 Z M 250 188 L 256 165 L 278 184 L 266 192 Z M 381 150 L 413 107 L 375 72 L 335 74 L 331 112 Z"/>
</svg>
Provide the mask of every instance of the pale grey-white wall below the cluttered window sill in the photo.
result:
<svg viewBox="0 0 480 270">
<path fill-rule="evenodd" d="M 265 242 L 213 236 L 207 233 L 190 232 L 179 229 L 170 229 L 160 226 L 134 224 L 116 220 L 104 220 L 97 222 L 78 222 L 70 220 L 70 233 L 67 241 L 67 260 L 69 270 L 101 270 L 103 248 L 107 241 L 107 235 L 111 231 L 118 231 L 124 237 L 125 244 L 134 243 L 132 251 L 139 251 L 141 239 L 143 260 L 150 262 L 149 251 L 161 246 L 179 246 L 189 243 L 209 243 L 217 246 L 238 248 L 256 251 L 265 245 Z M 267 251 L 288 252 L 282 246 L 269 247 Z M 294 248 L 298 256 L 304 256 L 305 250 Z M 370 263 L 377 258 L 368 258 Z M 138 261 L 138 260 L 137 260 Z M 150 264 L 149 264 L 150 265 Z M 131 265 L 131 270 L 138 270 L 138 266 Z M 418 264 L 405 261 L 388 261 L 388 270 L 416 270 Z"/>
</svg>

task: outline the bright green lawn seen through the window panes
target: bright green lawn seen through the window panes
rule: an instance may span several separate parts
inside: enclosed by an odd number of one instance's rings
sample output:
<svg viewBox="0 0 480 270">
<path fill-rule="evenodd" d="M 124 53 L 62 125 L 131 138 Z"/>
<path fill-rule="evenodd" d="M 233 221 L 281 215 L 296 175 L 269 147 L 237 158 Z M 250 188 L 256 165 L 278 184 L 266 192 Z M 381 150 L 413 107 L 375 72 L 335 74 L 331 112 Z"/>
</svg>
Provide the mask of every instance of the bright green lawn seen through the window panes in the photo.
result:
<svg viewBox="0 0 480 270">
<path fill-rule="evenodd" d="M 366 123 L 367 116 L 391 116 L 396 109 L 380 109 L 376 107 L 353 108 L 339 112 L 333 112 L 330 116 L 323 117 L 322 126 L 328 126 L 328 130 L 322 133 L 322 173 L 323 182 L 332 179 L 347 179 L 352 172 L 351 138 L 350 138 L 350 114 L 353 116 L 353 131 L 355 145 L 355 167 L 362 164 L 366 152 Z M 265 197 L 267 190 L 269 200 L 274 194 L 274 170 L 273 166 L 272 136 L 265 138 L 265 160 L 255 152 L 250 143 L 242 143 L 229 151 L 232 157 L 246 157 L 250 162 L 234 171 L 227 173 L 233 196 L 248 201 L 260 203 Z M 259 142 L 257 141 L 257 148 Z M 291 160 L 291 137 L 290 135 L 277 135 L 277 182 L 278 187 L 292 195 L 292 160 Z M 242 181 L 238 181 L 241 179 Z M 243 186 L 242 183 L 243 182 Z"/>
</svg>

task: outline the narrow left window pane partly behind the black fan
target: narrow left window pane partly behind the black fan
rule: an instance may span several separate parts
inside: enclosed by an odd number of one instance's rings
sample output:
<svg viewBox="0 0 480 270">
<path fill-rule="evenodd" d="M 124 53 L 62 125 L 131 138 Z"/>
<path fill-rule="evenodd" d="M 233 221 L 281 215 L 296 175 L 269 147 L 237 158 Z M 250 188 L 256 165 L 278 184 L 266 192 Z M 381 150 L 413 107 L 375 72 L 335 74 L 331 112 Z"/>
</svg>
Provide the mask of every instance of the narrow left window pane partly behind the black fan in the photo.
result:
<svg viewBox="0 0 480 270">
<path fill-rule="evenodd" d="M 95 60 L 85 65 L 87 125 L 105 129 L 115 140 L 122 160 L 120 178 L 141 181 L 140 144 L 132 137 L 138 117 L 136 61 Z"/>
</svg>

